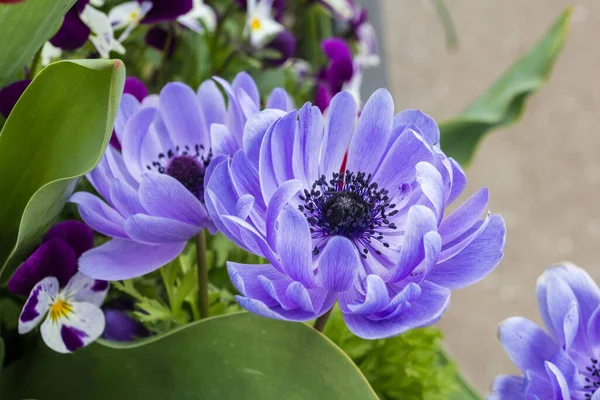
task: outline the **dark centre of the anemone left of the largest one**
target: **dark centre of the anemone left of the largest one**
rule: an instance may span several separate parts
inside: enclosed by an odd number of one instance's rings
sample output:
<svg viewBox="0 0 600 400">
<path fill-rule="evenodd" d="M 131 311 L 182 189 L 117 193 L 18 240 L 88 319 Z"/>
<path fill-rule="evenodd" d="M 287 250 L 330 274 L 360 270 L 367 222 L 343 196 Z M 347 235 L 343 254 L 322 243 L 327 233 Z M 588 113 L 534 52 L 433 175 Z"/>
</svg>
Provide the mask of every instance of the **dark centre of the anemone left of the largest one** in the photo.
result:
<svg viewBox="0 0 600 400">
<path fill-rule="evenodd" d="M 195 145 L 193 149 L 176 146 L 166 154 L 159 153 L 158 159 L 151 166 L 146 165 L 146 169 L 172 176 L 204 203 L 204 174 L 211 160 L 212 152 L 205 152 L 202 145 Z"/>
</svg>

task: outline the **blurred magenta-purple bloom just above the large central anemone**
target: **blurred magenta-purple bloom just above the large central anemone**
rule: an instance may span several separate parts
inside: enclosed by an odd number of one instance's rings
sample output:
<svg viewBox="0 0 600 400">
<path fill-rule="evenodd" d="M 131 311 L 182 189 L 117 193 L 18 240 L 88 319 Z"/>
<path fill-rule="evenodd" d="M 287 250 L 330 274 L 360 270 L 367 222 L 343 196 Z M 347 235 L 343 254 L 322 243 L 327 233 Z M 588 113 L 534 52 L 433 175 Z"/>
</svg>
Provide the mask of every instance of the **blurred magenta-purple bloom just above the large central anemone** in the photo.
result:
<svg viewBox="0 0 600 400">
<path fill-rule="evenodd" d="M 354 61 L 352 50 L 343 39 L 337 37 L 325 39 L 321 47 L 329 63 L 319 74 L 315 104 L 321 111 L 325 111 L 331 98 L 343 90 L 345 83 L 352 80 Z"/>
</svg>

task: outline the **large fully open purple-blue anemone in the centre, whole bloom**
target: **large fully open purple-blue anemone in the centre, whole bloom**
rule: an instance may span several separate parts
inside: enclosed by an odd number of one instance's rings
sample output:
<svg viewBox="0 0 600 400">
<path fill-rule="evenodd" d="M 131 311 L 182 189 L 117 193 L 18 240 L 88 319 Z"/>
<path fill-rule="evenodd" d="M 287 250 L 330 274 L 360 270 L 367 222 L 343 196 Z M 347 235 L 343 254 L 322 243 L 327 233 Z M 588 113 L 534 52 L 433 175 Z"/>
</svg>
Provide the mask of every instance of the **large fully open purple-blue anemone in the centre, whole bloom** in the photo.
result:
<svg viewBox="0 0 600 400">
<path fill-rule="evenodd" d="M 228 263 L 242 307 L 306 321 L 337 300 L 352 332 L 385 338 L 435 323 L 452 289 L 489 274 L 505 227 L 486 189 L 444 216 L 466 178 L 433 119 L 394 117 L 383 89 L 356 110 L 342 92 L 326 118 L 310 104 L 272 124 L 259 113 L 243 149 L 211 167 L 205 199 L 225 236 L 270 263 Z"/>
</svg>

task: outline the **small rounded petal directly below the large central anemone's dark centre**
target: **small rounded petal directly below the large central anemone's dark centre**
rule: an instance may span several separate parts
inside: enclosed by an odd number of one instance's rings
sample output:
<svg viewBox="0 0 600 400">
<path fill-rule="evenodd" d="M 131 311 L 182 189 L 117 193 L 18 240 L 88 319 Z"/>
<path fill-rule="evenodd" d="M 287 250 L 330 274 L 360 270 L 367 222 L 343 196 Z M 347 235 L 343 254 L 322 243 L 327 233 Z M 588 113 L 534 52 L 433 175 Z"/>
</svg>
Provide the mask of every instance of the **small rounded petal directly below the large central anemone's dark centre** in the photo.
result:
<svg viewBox="0 0 600 400">
<path fill-rule="evenodd" d="M 343 236 L 334 236 L 319 256 L 317 279 L 333 292 L 343 292 L 356 283 L 361 267 L 356 246 Z"/>
</svg>

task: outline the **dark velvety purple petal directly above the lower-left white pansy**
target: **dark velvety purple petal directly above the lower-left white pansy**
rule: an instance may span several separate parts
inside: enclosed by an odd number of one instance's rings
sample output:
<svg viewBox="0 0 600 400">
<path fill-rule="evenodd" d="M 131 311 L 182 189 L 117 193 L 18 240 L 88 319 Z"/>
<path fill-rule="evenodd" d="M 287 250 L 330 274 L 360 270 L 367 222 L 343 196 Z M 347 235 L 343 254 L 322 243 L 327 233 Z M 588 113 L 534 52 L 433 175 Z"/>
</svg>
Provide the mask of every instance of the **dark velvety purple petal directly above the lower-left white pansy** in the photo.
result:
<svg viewBox="0 0 600 400">
<path fill-rule="evenodd" d="M 51 239 L 42 244 L 13 274 L 8 281 L 8 290 L 27 296 L 42 279 L 53 276 L 63 287 L 77 272 L 75 252 L 61 239 Z"/>
</svg>

